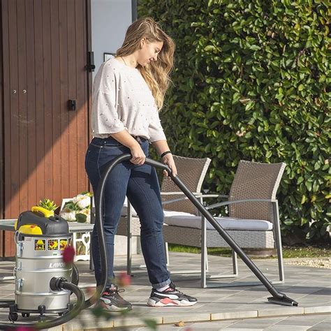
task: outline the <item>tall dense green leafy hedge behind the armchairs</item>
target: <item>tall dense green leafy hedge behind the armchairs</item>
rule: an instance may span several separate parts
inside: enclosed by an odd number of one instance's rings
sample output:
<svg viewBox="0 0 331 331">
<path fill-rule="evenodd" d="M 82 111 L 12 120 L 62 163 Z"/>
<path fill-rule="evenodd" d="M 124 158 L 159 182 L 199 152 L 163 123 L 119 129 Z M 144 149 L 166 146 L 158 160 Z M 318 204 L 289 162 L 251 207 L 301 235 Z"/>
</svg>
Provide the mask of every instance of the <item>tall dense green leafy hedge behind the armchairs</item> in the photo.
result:
<svg viewBox="0 0 331 331">
<path fill-rule="evenodd" d="M 241 159 L 285 162 L 283 234 L 314 240 L 331 215 L 327 3 L 138 1 L 177 45 L 161 113 L 172 150 L 209 156 L 205 187 L 223 193 Z"/>
</svg>

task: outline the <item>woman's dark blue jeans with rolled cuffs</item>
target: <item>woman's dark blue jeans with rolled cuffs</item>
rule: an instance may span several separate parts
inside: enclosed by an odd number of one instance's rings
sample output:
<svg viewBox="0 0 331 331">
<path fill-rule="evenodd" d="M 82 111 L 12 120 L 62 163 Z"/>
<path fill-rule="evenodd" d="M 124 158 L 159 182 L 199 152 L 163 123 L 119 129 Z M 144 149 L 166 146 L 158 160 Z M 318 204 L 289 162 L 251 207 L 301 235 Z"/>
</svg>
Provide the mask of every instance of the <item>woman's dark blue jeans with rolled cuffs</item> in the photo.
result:
<svg viewBox="0 0 331 331">
<path fill-rule="evenodd" d="M 140 147 L 148 156 L 148 140 L 142 139 Z M 130 153 L 115 138 L 93 138 L 85 156 L 85 169 L 94 193 L 105 163 L 115 157 Z M 140 219 L 140 242 L 145 258 L 149 281 L 154 288 L 170 284 L 170 273 L 165 263 L 163 243 L 163 209 L 159 181 L 151 165 L 135 165 L 124 161 L 110 172 L 105 187 L 104 233 L 108 251 L 108 281 L 114 278 L 114 237 L 121 216 L 125 196 L 133 205 Z M 91 238 L 91 253 L 94 261 L 96 285 L 101 283 L 101 258 L 98 246 L 98 234 L 94 227 Z"/>
</svg>

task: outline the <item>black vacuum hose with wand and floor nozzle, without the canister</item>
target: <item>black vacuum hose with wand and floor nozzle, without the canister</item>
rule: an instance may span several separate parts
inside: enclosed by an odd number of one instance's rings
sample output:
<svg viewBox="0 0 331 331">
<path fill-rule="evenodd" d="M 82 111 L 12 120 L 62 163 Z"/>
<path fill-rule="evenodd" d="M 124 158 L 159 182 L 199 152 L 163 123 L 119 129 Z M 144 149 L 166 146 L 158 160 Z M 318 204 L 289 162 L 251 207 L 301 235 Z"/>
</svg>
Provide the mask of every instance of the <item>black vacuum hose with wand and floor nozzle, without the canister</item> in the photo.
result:
<svg viewBox="0 0 331 331">
<path fill-rule="evenodd" d="M 73 293 L 75 293 L 75 295 L 78 298 L 78 302 L 77 304 L 75 304 L 75 307 L 72 311 L 70 311 L 68 314 L 64 316 L 56 318 L 55 320 L 47 321 L 44 323 L 38 323 L 37 325 L 28 324 L 28 323 L 15 323 L 15 324 L 0 323 L 0 328 L 17 328 L 17 326 L 33 326 L 34 328 L 38 328 L 38 329 L 54 328 L 57 325 L 61 325 L 63 323 L 70 321 L 72 318 L 77 316 L 82 309 L 90 307 L 92 304 L 94 304 L 94 302 L 96 302 L 96 300 L 98 300 L 101 297 L 101 293 L 103 293 L 103 291 L 105 290 L 107 277 L 108 277 L 108 254 L 107 254 L 107 249 L 105 247 L 105 237 L 103 233 L 103 217 L 102 217 L 103 204 L 104 204 L 103 195 L 105 192 L 105 184 L 108 175 L 112 171 L 112 169 L 115 168 L 115 166 L 118 163 L 128 161 L 131 158 L 132 158 L 131 154 L 123 154 L 121 156 L 117 156 L 117 158 L 105 164 L 105 169 L 103 170 L 103 173 L 101 175 L 101 179 L 98 183 L 98 189 L 96 191 L 96 196 L 94 197 L 96 204 L 95 226 L 98 233 L 98 242 L 100 243 L 101 275 L 102 275 L 101 286 L 98 286 L 98 288 L 96 288 L 96 293 L 92 297 L 84 301 L 84 293 L 82 293 L 82 290 L 78 288 L 78 286 L 68 283 L 67 281 L 62 281 L 61 288 L 66 290 L 71 290 Z M 203 207 L 203 205 L 196 198 L 196 196 L 194 196 L 193 193 L 186 188 L 184 183 L 182 183 L 182 181 L 177 176 L 175 177 L 172 175 L 172 172 L 168 167 L 168 165 L 164 165 L 163 163 L 148 158 L 145 159 L 145 164 L 152 165 L 156 168 L 161 168 L 168 172 L 172 181 L 175 182 L 175 184 L 177 184 L 179 189 L 181 189 L 184 192 L 184 194 L 189 198 L 189 200 L 191 200 L 193 205 L 195 205 L 198 208 L 201 214 L 203 214 L 203 216 L 205 216 L 205 218 L 210 223 L 212 223 L 212 226 L 214 226 L 214 228 L 219 232 L 221 237 L 223 237 L 223 239 L 226 240 L 229 246 L 240 256 L 240 258 L 242 258 L 244 263 L 246 263 L 249 269 L 251 269 L 253 274 L 255 274 L 256 277 L 258 277 L 258 279 L 265 286 L 265 288 L 267 288 L 267 290 L 273 295 L 273 297 L 268 298 L 270 302 L 274 302 L 277 304 L 286 304 L 290 306 L 297 306 L 297 302 L 295 302 L 295 300 L 290 299 L 284 293 L 280 293 L 278 290 L 276 290 L 276 288 L 274 288 L 274 286 L 272 286 L 270 281 L 268 281 L 268 279 L 264 276 L 264 274 L 260 272 L 260 270 L 258 270 L 258 267 L 256 267 L 256 265 L 247 257 L 247 255 L 244 253 L 244 251 L 242 251 L 242 249 L 237 245 L 237 243 L 228 235 L 228 233 L 226 233 L 225 230 L 223 230 L 221 226 L 219 226 L 219 223 L 217 223 L 214 220 L 212 214 L 210 214 L 208 210 L 205 209 L 205 207 Z M 4 302 L 3 303 L 5 305 L 4 307 L 8 307 L 10 303 L 13 303 L 13 300 L 10 300 L 10 302 L 9 301 Z"/>
</svg>

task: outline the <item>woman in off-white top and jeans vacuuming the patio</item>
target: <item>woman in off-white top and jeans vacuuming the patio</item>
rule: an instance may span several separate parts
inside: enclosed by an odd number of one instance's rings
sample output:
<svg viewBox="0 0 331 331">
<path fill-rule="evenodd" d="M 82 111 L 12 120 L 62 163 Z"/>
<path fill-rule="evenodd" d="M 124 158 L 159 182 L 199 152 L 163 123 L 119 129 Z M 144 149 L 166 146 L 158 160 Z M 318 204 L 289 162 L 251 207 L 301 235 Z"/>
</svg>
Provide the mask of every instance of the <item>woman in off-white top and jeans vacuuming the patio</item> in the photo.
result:
<svg viewBox="0 0 331 331">
<path fill-rule="evenodd" d="M 132 159 L 117 165 L 105 189 L 104 230 L 108 249 L 108 282 L 101 304 L 111 311 L 131 309 L 114 284 L 114 236 L 125 196 L 138 213 L 141 247 L 152 293 L 147 304 L 154 307 L 191 306 L 195 297 L 175 288 L 165 265 L 163 209 L 156 171 L 146 165 L 149 142 L 163 163 L 177 175 L 176 165 L 159 119 L 159 110 L 170 82 L 175 44 L 150 17 L 128 27 L 115 58 L 101 65 L 94 80 L 92 133 L 85 168 L 94 193 L 105 163 L 131 153 Z M 165 175 L 168 175 L 165 172 Z M 101 260 L 96 228 L 92 234 L 96 285 L 101 284 Z"/>
</svg>

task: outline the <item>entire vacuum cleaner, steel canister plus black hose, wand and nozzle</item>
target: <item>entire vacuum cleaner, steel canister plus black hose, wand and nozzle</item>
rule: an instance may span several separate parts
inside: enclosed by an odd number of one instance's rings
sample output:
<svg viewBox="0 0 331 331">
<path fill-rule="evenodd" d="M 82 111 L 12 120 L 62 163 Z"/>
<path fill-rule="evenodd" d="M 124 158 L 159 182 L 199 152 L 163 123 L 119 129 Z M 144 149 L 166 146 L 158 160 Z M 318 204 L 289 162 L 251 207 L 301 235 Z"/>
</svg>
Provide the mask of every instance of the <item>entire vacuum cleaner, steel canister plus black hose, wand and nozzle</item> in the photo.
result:
<svg viewBox="0 0 331 331">
<path fill-rule="evenodd" d="M 131 154 L 117 156 L 105 165 L 95 195 L 96 204 L 96 230 L 101 253 L 101 286 L 96 288 L 96 293 L 89 299 L 84 299 L 84 293 L 78 287 L 78 272 L 75 265 L 66 265 L 62 255 L 65 247 L 70 244 L 71 234 L 68 223 L 60 216 L 41 207 L 33 207 L 31 211 L 22 212 L 15 225 L 16 263 L 15 274 L 15 300 L 1 300 L 0 308 L 8 307 L 8 318 L 12 323 L 1 323 L 0 328 L 17 328 L 19 326 L 33 326 L 36 329 L 54 328 L 64 324 L 77 316 L 82 309 L 91 306 L 105 290 L 108 274 L 108 258 L 103 234 L 103 203 L 105 183 L 108 175 L 118 163 L 128 161 Z M 284 293 L 280 293 L 251 259 L 242 251 L 237 243 L 226 233 L 212 214 L 200 203 L 178 176 L 173 176 L 168 165 L 145 159 L 145 164 L 166 170 L 175 184 L 191 200 L 205 218 L 214 226 L 219 235 L 237 253 L 251 269 L 253 274 L 267 288 L 272 297 L 267 300 L 274 304 L 297 306 L 297 302 Z M 77 297 L 77 302 L 71 302 L 71 293 Z M 30 314 L 39 314 L 40 323 L 15 323 L 18 313 L 23 317 Z M 70 313 L 70 314 L 68 314 Z M 58 314 L 59 317 L 45 320 L 45 314 Z"/>
</svg>

